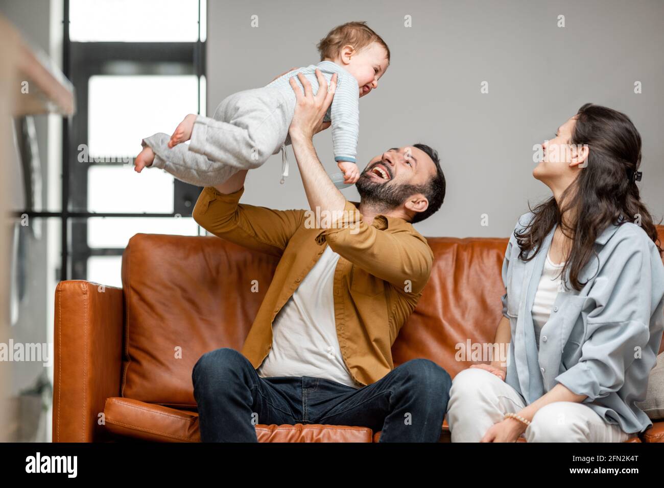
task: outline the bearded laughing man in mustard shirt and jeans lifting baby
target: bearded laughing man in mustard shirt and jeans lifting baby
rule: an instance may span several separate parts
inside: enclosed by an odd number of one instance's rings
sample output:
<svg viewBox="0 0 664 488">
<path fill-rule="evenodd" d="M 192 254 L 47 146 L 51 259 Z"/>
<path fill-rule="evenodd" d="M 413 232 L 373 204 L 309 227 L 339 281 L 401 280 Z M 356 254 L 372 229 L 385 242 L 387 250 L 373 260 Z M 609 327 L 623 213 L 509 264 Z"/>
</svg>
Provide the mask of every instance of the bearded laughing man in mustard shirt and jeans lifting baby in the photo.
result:
<svg viewBox="0 0 664 488">
<path fill-rule="evenodd" d="M 442 205 L 445 179 L 425 145 L 392 148 L 361 174 L 359 206 L 343 197 L 313 149 L 336 75 L 290 83 L 289 133 L 311 211 L 239 204 L 246 171 L 203 190 L 194 219 L 280 257 L 241 353 L 205 353 L 193 373 L 203 442 L 256 442 L 255 424 L 382 430 L 380 442 L 436 442 L 451 386 L 429 359 L 394 368 L 391 346 L 415 308 L 434 255 L 411 222 Z"/>
</svg>

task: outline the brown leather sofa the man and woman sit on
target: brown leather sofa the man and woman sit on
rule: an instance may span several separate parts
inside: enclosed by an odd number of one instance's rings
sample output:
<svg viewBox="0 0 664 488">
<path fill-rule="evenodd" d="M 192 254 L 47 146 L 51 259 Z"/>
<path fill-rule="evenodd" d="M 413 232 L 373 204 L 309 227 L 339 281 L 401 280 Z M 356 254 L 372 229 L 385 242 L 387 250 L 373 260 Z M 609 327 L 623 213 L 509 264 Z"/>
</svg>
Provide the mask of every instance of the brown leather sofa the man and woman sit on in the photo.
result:
<svg viewBox="0 0 664 488">
<path fill-rule="evenodd" d="M 664 227 L 659 236 L 664 241 Z M 436 256 L 432 276 L 392 347 L 394 365 L 426 357 L 454 377 L 472 364 L 456 361 L 457 343 L 493 341 L 507 238 L 429 243 Z M 276 264 L 218 237 L 136 234 L 122 257 L 123 288 L 60 282 L 53 441 L 198 442 L 191 370 L 206 351 L 241 349 Z M 260 442 L 380 437 L 369 428 L 317 424 L 258 424 L 256 433 Z M 446 424 L 440 440 L 450 440 Z M 664 421 L 640 440 L 664 442 Z"/>
</svg>

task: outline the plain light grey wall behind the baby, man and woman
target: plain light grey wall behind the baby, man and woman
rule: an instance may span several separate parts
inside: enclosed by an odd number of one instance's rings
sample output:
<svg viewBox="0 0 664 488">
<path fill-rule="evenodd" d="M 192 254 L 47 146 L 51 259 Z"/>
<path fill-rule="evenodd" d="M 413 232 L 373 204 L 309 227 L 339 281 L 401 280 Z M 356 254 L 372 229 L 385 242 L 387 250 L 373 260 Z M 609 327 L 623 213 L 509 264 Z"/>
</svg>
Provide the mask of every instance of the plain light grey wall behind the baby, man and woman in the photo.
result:
<svg viewBox="0 0 664 488">
<path fill-rule="evenodd" d="M 258 15 L 259 27 L 251 27 Z M 404 27 L 404 16 L 412 27 Z M 558 15 L 566 27 L 557 27 Z M 208 1 L 208 113 L 226 95 L 318 61 L 335 25 L 366 20 L 392 62 L 360 103 L 360 165 L 393 146 L 438 149 L 448 194 L 416 225 L 427 236 L 507 236 L 518 215 L 550 196 L 532 176 L 533 145 L 588 101 L 623 111 L 643 138 L 643 200 L 664 214 L 664 2 Z M 489 93 L 480 84 L 489 82 Z M 635 94 L 640 81 L 643 93 Z M 329 133 L 314 139 L 336 169 Z M 289 156 L 295 166 L 291 149 Z M 278 183 L 280 156 L 250 172 L 243 201 L 306 208 L 297 168 Z M 344 190 L 357 199 L 355 188 Z M 481 214 L 489 225 L 481 226 Z"/>
</svg>

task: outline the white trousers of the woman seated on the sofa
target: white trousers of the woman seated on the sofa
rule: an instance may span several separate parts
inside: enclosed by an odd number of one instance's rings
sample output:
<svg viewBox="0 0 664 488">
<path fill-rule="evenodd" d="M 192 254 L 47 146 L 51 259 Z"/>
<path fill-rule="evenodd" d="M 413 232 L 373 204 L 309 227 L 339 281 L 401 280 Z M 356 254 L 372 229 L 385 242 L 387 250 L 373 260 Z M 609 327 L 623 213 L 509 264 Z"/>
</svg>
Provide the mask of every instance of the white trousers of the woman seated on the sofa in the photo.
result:
<svg viewBox="0 0 664 488">
<path fill-rule="evenodd" d="M 485 369 L 469 368 L 452 381 L 448 402 L 448 425 L 452 442 L 479 442 L 489 427 L 508 412 L 526 404 L 505 381 Z M 535 413 L 523 436 L 527 442 L 623 442 L 626 434 L 589 406 L 576 402 L 553 402 Z"/>
</svg>

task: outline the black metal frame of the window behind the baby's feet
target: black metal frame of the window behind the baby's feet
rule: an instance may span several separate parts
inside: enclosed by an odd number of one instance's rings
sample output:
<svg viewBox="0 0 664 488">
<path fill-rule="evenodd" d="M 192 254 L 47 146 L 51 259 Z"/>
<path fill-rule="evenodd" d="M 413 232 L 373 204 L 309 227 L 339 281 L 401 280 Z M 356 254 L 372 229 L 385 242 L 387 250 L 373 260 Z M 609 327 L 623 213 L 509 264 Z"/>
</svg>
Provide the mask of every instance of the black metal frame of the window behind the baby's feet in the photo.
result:
<svg viewBox="0 0 664 488">
<path fill-rule="evenodd" d="M 15 212 L 29 217 L 56 217 L 61 227 L 61 262 L 57 280 L 87 279 L 91 256 L 120 256 L 124 248 L 88 246 L 88 217 L 191 217 L 193 205 L 202 187 L 175 179 L 172 213 L 87 212 L 88 169 L 95 164 L 126 164 L 122 161 L 79 162 L 78 146 L 88 145 L 88 82 L 91 76 L 107 74 L 108 62 L 140 62 L 145 74 L 163 74 L 154 68 L 171 66 L 175 74 L 193 74 L 199 78 L 198 107 L 201 113 L 201 76 L 205 76 L 205 46 L 201 41 L 201 4 L 199 0 L 199 39 L 195 42 L 72 42 L 69 36 L 69 0 L 64 0 L 62 65 L 66 78 L 74 86 L 76 113 L 62 119 L 62 200 L 59 212 Z M 143 74 L 143 73 L 141 73 Z M 185 114 L 183 114 L 185 115 Z M 108 156 L 112 156 L 108 154 Z M 131 160 L 133 164 L 133 160 Z M 74 166 L 75 165 L 75 166 Z M 72 192 L 72 189 L 75 192 Z M 81 221 L 82 220 L 82 221 Z M 71 225 L 71 230 L 69 228 Z"/>
</svg>

